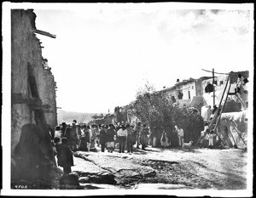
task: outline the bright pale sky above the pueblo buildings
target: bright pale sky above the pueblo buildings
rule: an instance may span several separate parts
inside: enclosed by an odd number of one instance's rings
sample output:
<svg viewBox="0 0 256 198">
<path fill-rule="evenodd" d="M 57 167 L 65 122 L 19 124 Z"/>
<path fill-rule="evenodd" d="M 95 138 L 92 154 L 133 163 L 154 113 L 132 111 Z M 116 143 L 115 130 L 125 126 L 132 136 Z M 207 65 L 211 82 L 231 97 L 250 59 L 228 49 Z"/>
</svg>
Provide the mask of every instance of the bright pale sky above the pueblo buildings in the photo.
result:
<svg viewBox="0 0 256 198">
<path fill-rule="evenodd" d="M 180 80 L 253 68 L 253 12 L 241 4 L 32 4 L 43 57 L 62 110 L 108 113 L 128 105 L 148 81 Z M 249 10 L 251 8 L 251 10 Z"/>
</svg>

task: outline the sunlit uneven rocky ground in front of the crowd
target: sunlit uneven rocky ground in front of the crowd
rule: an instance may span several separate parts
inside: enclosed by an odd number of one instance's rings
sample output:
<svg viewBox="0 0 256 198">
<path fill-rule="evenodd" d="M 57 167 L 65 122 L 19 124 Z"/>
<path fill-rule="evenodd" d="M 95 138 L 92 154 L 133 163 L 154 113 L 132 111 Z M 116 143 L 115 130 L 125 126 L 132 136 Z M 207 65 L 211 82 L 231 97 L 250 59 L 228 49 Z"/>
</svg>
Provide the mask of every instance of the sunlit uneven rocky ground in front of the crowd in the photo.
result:
<svg viewBox="0 0 256 198">
<path fill-rule="evenodd" d="M 77 151 L 73 173 L 81 189 L 247 189 L 247 152 L 239 149 L 161 149 L 132 154 Z"/>
</svg>

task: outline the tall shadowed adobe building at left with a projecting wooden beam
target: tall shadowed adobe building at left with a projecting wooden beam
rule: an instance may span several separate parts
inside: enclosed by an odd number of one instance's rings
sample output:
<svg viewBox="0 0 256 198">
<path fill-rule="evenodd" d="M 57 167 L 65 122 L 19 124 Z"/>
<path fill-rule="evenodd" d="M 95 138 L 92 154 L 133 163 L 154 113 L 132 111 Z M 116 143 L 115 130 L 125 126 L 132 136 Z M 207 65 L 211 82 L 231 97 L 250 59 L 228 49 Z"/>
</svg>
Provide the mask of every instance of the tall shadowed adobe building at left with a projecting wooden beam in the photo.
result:
<svg viewBox="0 0 256 198">
<path fill-rule="evenodd" d="M 49 129 L 57 125 L 56 82 L 35 33 L 55 36 L 37 30 L 35 19 L 32 9 L 11 10 L 12 186 L 24 180 L 50 185 L 55 165 Z"/>
</svg>

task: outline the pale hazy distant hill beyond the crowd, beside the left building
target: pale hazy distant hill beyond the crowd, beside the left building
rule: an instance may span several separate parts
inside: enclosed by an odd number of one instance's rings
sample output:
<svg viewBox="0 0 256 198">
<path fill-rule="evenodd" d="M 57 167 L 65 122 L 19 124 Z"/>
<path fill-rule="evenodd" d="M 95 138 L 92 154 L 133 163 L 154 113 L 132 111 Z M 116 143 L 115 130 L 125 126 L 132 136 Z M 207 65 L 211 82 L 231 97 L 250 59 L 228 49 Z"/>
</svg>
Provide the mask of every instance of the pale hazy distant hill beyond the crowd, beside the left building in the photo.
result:
<svg viewBox="0 0 256 198">
<path fill-rule="evenodd" d="M 88 123 L 91 120 L 91 116 L 96 115 L 96 113 L 79 113 L 73 111 L 66 111 L 58 109 L 58 123 L 66 122 L 67 124 L 71 124 L 73 120 L 77 120 L 78 122 Z M 83 121 L 84 120 L 84 121 Z"/>
</svg>

